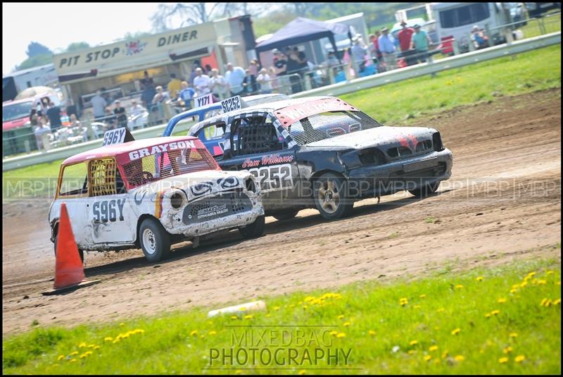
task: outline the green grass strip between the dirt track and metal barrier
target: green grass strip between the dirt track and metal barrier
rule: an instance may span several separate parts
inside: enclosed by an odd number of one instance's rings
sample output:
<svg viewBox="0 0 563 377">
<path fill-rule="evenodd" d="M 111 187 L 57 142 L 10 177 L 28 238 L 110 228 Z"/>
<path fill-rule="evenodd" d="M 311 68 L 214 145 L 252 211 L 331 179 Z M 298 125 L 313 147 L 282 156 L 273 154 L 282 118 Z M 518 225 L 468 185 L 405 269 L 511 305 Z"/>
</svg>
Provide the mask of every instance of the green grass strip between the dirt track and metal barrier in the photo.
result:
<svg viewBox="0 0 563 377">
<path fill-rule="evenodd" d="M 420 116 L 502 96 L 561 87 L 561 47 L 552 46 L 342 96 L 388 125 L 415 125 Z M 62 160 L 2 174 L 3 186 L 29 178 L 56 178 Z M 43 187 L 43 186 L 42 186 Z M 4 190 L 6 191 L 6 190 Z M 52 197 L 46 189 L 36 194 Z M 4 199 L 6 197 L 4 196 Z"/>
</svg>

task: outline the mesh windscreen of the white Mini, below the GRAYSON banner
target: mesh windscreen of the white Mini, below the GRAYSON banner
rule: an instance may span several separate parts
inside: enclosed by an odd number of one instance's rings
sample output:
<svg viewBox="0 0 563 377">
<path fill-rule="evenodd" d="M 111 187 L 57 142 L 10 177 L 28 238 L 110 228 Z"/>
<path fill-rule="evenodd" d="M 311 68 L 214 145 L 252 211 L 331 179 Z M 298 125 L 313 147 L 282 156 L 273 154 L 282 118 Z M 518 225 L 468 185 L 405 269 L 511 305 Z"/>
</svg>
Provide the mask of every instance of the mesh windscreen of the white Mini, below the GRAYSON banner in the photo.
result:
<svg viewBox="0 0 563 377">
<path fill-rule="evenodd" d="M 124 178 L 129 187 L 205 170 L 217 170 L 217 163 L 205 148 L 173 149 L 123 164 Z"/>
</svg>

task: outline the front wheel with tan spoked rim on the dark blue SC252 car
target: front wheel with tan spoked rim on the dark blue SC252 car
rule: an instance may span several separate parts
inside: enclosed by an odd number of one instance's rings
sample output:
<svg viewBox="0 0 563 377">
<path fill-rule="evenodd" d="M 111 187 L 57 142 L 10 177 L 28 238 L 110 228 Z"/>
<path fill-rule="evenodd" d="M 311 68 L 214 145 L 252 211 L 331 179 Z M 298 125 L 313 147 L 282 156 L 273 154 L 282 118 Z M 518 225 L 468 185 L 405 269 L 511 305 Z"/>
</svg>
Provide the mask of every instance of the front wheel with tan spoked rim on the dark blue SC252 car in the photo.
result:
<svg viewBox="0 0 563 377">
<path fill-rule="evenodd" d="M 315 180 L 315 206 L 328 220 L 351 214 L 354 202 L 348 197 L 346 180 L 334 173 L 325 173 Z"/>
</svg>

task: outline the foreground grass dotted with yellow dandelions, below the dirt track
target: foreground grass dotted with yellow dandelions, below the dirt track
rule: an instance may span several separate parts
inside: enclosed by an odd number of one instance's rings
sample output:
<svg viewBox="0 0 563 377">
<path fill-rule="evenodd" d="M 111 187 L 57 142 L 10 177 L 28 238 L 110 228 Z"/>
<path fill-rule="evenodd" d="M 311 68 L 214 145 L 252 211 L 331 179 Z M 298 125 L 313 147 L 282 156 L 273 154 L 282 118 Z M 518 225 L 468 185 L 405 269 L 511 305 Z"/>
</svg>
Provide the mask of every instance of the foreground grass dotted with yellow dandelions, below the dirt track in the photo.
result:
<svg viewBox="0 0 563 377">
<path fill-rule="evenodd" d="M 266 311 L 236 316 L 208 319 L 207 311 L 216 308 L 197 308 L 72 329 L 36 325 L 30 333 L 3 340 L 2 366 L 6 374 L 225 372 L 211 368 L 243 374 L 559 374 L 560 297 L 560 261 L 519 261 L 464 273 L 445 265 L 417 280 L 265 298 Z M 291 342 L 289 336 L 281 342 L 272 335 L 283 329 L 293 335 Z M 240 342 L 244 331 L 258 330 L 267 331 L 262 342 Z M 313 333 L 318 340 L 312 340 Z M 236 357 L 233 363 L 226 359 L 226 365 L 217 359 L 223 349 L 250 352 L 253 346 L 264 352 L 263 363 L 260 356 L 255 365 L 242 356 L 241 364 Z M 289 348 L 297 353 L 291 365 L 289 357 L 282 361 Z M 281 350 L 278 364 L 268 361 L 264 349 Z M 332 359 L 328 366 L 315 350 L 341 350 L 348 359 L 341 357 L 337 364 Z M 317 355 L 316 365 L 306 358 L 303 364 L 305 352 Z M 273 367 L 281 369 L 264 369 Z M 335 367 L 341 369 L 327 369 Z"/>
</svg>

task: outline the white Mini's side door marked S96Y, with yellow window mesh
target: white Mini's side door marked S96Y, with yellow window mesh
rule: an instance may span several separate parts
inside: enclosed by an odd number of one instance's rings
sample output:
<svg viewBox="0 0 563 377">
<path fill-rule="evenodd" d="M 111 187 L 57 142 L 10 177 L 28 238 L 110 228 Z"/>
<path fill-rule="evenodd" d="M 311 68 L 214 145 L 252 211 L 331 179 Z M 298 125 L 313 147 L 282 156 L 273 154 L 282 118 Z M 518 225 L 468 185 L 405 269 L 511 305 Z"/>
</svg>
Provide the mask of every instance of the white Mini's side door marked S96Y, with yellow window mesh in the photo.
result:
<svg viewBox="0 0 563 377">
<path fill-rule="evenodd" d="M 87 222 L 94 243 L 128 243 L 135 239 L 136 217 L 113 158 L 89 162 L 91 183 Z"/>
</svg>

